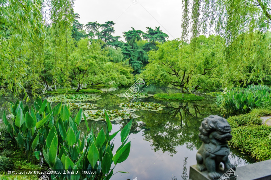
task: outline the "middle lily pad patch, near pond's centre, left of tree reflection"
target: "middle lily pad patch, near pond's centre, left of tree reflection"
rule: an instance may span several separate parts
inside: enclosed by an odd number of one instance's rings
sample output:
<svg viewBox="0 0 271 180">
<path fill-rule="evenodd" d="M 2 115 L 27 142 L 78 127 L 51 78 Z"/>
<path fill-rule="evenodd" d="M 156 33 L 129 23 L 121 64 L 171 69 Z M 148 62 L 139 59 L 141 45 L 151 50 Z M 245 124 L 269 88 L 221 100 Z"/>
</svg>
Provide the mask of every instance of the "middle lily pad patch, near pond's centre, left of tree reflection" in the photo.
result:
<svg viewBox="0 0 271 180">
<path fill-rule="evenodd" d="M 147 111 L 160 111 L 163 110 L 164 105 L 153 102 L 131 102 L 120 103 L 119 107 L 125 110 L 147 110 Z"/>
</svg>

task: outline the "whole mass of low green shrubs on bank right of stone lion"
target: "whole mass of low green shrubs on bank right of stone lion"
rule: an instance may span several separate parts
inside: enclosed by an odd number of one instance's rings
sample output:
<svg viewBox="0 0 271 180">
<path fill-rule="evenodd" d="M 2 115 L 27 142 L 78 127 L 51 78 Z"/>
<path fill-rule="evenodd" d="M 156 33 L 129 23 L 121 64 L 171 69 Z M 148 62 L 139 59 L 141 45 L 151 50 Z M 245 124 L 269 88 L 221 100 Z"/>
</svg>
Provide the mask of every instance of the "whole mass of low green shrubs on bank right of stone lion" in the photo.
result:
<svg viewBox="0 0 271 180">
<path fill-rule="evenodd" d="M 270 114 L 269 109 L 253 109 L 248 114 L 229 117 L 232 127 L 229 146 L 251 154 L 257 161 L 271 159 L 271 127 L 262 125 L 260 119 Z"/>
</svg>

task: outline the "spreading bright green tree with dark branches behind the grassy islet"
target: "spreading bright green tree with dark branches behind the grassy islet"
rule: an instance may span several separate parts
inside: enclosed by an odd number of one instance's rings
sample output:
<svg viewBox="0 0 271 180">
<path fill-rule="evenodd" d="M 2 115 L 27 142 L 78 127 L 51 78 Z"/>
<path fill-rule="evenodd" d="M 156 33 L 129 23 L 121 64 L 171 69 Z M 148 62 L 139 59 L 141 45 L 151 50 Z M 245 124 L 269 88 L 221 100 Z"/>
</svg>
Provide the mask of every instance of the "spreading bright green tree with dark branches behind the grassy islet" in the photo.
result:
<svg viewBox="0 0 271 180">
<path fill-rule="evenodd" d="M 173 85 L 183 88 L 187 93 L 198 89 L 216 89 L 220 87 L 220 77 L 213 71 L 219 69 L 221 38 L 211 35 L 197 39 L 201 45 L 197 53 L 190 53 L 190 44 L 172 40 L 157 44 L 157 50 L 148 52 L 149 63 L 139 75 L 148 83 Z"/>
</svg>

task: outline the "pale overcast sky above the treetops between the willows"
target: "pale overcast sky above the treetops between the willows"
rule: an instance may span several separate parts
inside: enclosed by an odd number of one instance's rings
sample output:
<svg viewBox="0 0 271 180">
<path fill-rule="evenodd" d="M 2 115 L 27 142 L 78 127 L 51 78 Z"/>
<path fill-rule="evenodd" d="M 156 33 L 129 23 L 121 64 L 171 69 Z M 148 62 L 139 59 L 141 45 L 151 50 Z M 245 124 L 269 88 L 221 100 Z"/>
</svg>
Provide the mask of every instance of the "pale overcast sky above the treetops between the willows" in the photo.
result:
<svg viewBox="0 0 271 180">
<path fill-rule="evenodd" d="M 146 32 L 146 27 L 155 26 L 160 26 L 170 40 L 182 35 L 181 0 L 75 0 L 74 13 L 84 25 L 114 21 L 114 36 L 122 37 L 131 27 Z"/>
</svg>

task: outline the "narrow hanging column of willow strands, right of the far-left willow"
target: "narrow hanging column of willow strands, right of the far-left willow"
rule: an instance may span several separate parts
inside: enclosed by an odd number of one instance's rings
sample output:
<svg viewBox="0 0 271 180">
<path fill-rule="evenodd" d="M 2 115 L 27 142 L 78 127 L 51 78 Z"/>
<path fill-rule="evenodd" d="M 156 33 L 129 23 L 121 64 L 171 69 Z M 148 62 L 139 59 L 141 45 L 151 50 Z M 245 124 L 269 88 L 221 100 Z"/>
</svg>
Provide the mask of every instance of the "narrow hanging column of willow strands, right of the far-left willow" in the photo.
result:
<svg viewBox="0 0 271 180">
<path fill-rule="evenodd" d="M 72 45 L 72 27 L 74 21 L 73 0 L 51 0 L 48 4 L 50 9 L 51 32 L 54 46 L 54 68 L 52 70 L 52 84 L 58 81 L 65 82 L 65 86 L 70 86 L 69 79 L 69 56 Z M 52 90 L 48 87 L 47 90 Z"/>
</svg>

